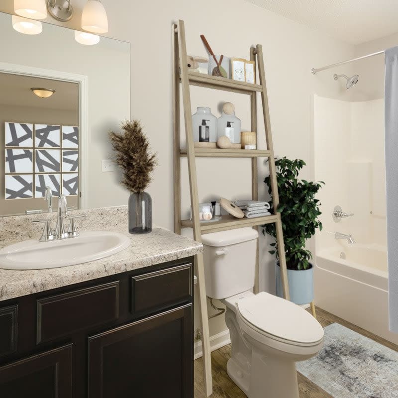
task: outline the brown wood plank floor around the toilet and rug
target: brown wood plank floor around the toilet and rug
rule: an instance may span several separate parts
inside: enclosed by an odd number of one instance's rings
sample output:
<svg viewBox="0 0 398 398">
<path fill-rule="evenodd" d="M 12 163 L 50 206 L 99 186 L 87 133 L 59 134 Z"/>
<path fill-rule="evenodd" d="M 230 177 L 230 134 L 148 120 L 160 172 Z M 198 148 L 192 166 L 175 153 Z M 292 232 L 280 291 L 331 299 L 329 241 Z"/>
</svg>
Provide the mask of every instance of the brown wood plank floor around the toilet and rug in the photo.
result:
<svg viewBox="0 0 398 398">
<path fill-rule="evenodd" d="M 340 323 L 366 337 L 371 338 L 393 350 L 398 351 L 398 346 L 387 340 L 376 336 L 350 322 L 347 322 L 321 308 L 316 308 L 316 314 L 320 324 L 325 327 L 333 322 Z M 230 346 L 220 348 L 211 353 L 211 364 L 213 371 L 213 394 L 211 398 L 246 398 L 246 395 L 237 387 L 226 373 L 226 363 L 230 358 Z M 195 361 L 195 398 L 206 398 L 203 393 L 203 368 L 201 358 Z M 306 377 L 298 373 L 298 389 L 300 398 L 333 398 L 320 387 L 312 383 Z"/>
</svg>

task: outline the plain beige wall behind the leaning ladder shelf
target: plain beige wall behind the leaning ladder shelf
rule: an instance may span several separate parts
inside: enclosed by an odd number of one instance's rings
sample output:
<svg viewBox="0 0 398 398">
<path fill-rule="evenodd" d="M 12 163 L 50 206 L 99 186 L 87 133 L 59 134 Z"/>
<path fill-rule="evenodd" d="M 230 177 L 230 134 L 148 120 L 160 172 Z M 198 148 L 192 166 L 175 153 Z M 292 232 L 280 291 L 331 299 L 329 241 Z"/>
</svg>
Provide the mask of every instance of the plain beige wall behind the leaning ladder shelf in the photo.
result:
<svg viewBox="0 0 398 398">
<path fill-rule="evenodd" d="M 85 2 L 73 2 L 77 15 L 68 23 L 70 26 L 79 26 Z M 153 198 L 156 224 L 173 228 L 171 24 L 179 18 L 185 20 L 190 54 L 205 54 L 199 38 L 202 33 L 215 52 L 226 56 L 247 58 L 251 45 L 263 45 L 275 152 L 278 156 L 302 158 L 310 164 L 311 95 L 315 92 L 327 97 L 341 95 L 329 73 L 312 76 L 310 70 L 353 57 L 353 45 L 243 0 L 102 0 L 102 3 L 108 14 L 109 36 L 131 42 L 131 117 L 142 121 L 159 157 L 159 166 L 148 190 Z M 0 10 L 12 12 L 12 0 L 2 1 Z M 219 102 L 229 100 L 235 103 L 242 127 L 247 128 L 248 98 L 201 88 L 192 90 L 193 109 L 207 105 L 217 116 Z M 112 103 L 111 99 L 105 101 Z M 264 147 L 261 118 L 258 122 L 261 147 Z M 187 214 L 186 160 L 182 160 L 182 164 L 183 210 Z M 221 195 L 231 199 L 250 196 L 249 161 L 199 159 L 197 167 L 199 200 Z M 261 161 L 258 175 L 261 198 L 265 197 L 266 174 L 267 167 Z M 309 169 L 306 169 L 303 177 L 308 176 Z M 274 259 L 268 254 L 268 243 L 261 235 L 260 284 L 262 289 L 273 292 Z M 223 328 L 221 320 L 210 321 L 212 334 Z"/>
</svg>

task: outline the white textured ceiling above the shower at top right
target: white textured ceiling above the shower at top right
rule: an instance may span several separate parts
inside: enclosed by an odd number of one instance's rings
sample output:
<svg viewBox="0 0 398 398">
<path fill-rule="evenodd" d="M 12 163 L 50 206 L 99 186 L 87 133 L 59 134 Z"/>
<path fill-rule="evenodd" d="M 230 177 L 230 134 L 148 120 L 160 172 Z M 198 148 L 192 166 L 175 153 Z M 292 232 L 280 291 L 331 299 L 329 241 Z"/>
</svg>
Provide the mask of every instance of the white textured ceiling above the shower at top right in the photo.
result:
<svg viewBox="0 0 398 398">
<path fill-rule="evenodd" d="M 246 0 L 351 44 L 398 32 L 397 0 Z"/>
</svg>

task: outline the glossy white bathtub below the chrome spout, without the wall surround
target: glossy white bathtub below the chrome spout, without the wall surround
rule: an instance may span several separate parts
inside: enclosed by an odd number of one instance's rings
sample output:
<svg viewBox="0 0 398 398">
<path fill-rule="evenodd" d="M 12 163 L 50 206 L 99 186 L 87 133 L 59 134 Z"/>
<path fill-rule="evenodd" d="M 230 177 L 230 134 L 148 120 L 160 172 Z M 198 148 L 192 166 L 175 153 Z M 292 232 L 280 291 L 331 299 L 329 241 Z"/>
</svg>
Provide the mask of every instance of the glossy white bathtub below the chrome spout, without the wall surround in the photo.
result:
<svg viewBox="0 0 398 398">
<path fill-rule="evenodd" d="M 318 250 L 315 304 L 398 344 L 388 330 L 387 253 L 377 245 Z"/>
</svg>

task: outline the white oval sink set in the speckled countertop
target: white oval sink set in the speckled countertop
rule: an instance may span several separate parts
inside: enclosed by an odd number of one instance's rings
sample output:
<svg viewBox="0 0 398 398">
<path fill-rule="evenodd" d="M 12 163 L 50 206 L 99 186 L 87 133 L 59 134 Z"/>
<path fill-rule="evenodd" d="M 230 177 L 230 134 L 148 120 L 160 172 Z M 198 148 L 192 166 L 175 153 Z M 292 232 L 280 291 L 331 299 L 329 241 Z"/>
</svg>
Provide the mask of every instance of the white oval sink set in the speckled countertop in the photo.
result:
<svg viewBox="0 0 398 398">
<path fill-rule="evenodd" d="M 128 236 L 112 231 L 83 231 L 76 238 L 39 242 L 29 239 L 0 249 L 0 268 L 41 270 L 99 260 L 130 245 Z"/>
</svg>

